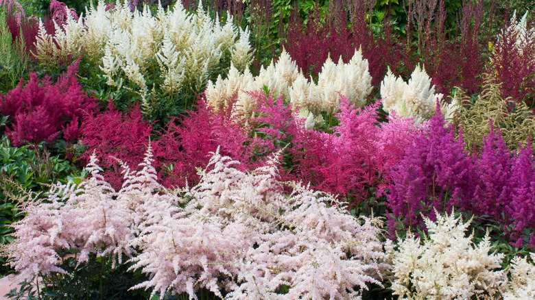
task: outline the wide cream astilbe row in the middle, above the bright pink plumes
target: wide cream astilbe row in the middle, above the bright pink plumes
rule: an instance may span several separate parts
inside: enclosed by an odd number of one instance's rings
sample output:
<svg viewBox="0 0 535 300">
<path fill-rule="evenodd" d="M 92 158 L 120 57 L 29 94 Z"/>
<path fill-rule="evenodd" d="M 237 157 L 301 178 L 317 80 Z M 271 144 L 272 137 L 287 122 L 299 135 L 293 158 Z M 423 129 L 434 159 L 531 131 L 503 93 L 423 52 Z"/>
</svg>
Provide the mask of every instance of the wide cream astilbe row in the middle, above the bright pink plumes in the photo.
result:
<svg viewBox="0 0 535 300">
<path fill-rule="evenodd" d="M 272 62 L 267 68 L 262 67 L 257 77 L 248 71 L 240 74 L 231 66 L 226 79 L 219 77 L 215 83 L 209 82 L 206 99 L 211 107 L 221 108 L 237 94 L 235 110 L 250 116 L 254 110 L 250 92 L 259 92 L 267 87 L 275 97 L 282 96 L 285 101 L 292 103 L 292 109 L 300 111 L 302 118 L 316 118 L 320 123 L 320 112 L 338 112 L 340 95 L 358 107 L 364 105 L 372 91 L 371 82 L 368 60 L 362 57 L 360 50 L 355 51 L 348 64 L 344 64 L 342 58 L 337 64 L 328 58 L 318 77 L 318 84 L 298 72 L 296 63 L 283 50 L 278 61 Z M 309 121 L 308 127 L 313 127 L 313 124 Z"/>
</svg>

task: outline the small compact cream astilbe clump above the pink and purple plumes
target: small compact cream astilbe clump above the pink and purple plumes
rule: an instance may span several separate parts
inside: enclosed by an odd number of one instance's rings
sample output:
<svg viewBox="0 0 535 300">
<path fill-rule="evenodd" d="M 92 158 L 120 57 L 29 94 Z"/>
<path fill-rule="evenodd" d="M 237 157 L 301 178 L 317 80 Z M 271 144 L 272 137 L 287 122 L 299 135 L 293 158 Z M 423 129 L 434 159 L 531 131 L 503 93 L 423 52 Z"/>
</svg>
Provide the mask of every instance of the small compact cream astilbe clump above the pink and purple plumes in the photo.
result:
<svg viewBox="0 0 535 300">
<path fill-rule="evenodd" d="M 429 120 L 435 114 L 436 102 L 442 102 L 442 114 L 448 119 L 453 118 L 456 103 L 442 101 L 442 94 L 435 94 L 435 86 L 431 86 L 431 78 L 425 73 L 425 68 L 416 66 L 411 79 L 406 83 L 401 77 L 396 77 L 390 68 L 381 82 L 381 97 L 385 112 L 395 111 L 396 115 L 404 118 L 415 118 L 416 121 Z"/>
</svg>

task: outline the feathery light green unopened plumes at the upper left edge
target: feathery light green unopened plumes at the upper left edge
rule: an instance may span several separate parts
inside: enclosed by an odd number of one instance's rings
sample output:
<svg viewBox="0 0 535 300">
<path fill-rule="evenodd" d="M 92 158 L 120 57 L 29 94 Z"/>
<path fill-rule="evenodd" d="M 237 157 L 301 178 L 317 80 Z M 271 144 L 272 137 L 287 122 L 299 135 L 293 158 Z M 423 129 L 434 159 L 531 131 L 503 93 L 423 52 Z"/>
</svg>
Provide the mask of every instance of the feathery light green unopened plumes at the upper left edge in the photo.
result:
<svg viewBox="0 0 535 300">
<path fill-rule="evenodd" d="M 19 83 L 27 70 L 27 56 L 22 34 L 12 40 L 5 22 L 6 12 L 0 9 L 0 91 L 7 92 Z"/>
</svg>

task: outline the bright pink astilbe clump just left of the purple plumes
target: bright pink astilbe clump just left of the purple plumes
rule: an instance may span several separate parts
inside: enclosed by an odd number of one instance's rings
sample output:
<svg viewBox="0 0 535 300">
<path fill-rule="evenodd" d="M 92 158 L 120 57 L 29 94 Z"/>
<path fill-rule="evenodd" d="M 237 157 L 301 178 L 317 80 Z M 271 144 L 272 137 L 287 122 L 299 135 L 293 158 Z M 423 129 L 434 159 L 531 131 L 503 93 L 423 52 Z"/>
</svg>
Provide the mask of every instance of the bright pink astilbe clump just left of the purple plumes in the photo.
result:
<svg viewBox="0 0 535 300">
<path fill-rule="evenodd" d="M 382 190 L 390 170 L 401 160 L 416 129 L 392 116 L 389 123 L 377 120 L 380 101 L 365 108 L 354 108 L 340 98 L 340 125 L 333 134 L 301 129 L 296 134 L 293 152 L 298 178 L 314 186 L 356 201 L 364 199 L 368 186 Z"/>
</svg>

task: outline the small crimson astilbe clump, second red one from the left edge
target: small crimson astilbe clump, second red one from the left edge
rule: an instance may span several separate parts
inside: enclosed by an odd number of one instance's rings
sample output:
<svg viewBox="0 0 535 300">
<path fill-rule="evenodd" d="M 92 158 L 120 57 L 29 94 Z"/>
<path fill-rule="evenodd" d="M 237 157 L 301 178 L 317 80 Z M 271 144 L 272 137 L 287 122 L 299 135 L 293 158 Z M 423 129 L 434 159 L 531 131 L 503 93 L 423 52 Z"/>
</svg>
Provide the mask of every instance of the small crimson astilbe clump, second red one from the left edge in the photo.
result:
<svg viewBox="0 0 535 300">
<path fill-rule="evenodd" d="M 118 190 L 123 182 L 118 160 L 130 166 L 141 163 L 151 132 L 152 125 L 143 121 L 139 105 L 123 115 L 110 101 L 106 112 L 84 117 L 80 141 L 88 150 L 82 160 L 88 162 L 94 154 L 105 169 L 104 178 Z"/>
</svg>

